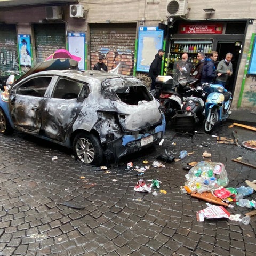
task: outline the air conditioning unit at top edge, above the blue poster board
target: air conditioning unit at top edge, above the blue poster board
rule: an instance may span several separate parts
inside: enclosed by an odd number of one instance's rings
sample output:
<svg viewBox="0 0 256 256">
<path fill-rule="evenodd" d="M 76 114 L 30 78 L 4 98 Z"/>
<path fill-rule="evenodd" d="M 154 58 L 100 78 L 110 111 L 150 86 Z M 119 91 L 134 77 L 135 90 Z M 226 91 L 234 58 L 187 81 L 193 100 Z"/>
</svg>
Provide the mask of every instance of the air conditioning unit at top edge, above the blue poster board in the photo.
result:
<svg viewBox="0 0 256 256">
<path fill-rule="evenodd" d="M 187 0 L 167 0 L 167 16 L 185 16 L 188 13 Z"/>
</svg>

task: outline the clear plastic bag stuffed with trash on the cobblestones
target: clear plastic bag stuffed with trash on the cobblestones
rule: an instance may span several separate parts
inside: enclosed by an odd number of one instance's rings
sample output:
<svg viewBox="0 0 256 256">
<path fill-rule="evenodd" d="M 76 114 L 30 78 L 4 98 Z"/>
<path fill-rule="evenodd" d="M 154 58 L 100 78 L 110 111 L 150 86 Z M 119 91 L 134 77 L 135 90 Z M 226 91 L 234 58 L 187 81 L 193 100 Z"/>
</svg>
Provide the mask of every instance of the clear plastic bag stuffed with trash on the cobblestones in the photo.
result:
<svg viewBox="0 0 256 256">
<path fill-rule="evenodd" d="M 228 177 L 225 166 L 222 163 L 198 162 L 185 175 L 187 181 L 183 186 L 189 188 L 191 193 L 214 191 L 219 187 L 228 185 Z M 185 190 L 188 191 L 187 189 Z"/>
</svg>

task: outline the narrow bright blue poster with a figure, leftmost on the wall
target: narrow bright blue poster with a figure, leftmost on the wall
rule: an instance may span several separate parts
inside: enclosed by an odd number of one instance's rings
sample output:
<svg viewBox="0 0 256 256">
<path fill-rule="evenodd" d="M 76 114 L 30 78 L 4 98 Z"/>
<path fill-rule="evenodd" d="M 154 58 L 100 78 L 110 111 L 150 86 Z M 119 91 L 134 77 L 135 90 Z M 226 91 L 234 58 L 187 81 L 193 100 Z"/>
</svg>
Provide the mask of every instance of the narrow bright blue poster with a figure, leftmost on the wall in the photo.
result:
<svg viewBox="0 0 256 256">
<path fill-rule="evenodd" d="M 19 59 L 21 66 L 31 67 L 32 51 L 30 35 L 18 34 Z"/>
</svg>

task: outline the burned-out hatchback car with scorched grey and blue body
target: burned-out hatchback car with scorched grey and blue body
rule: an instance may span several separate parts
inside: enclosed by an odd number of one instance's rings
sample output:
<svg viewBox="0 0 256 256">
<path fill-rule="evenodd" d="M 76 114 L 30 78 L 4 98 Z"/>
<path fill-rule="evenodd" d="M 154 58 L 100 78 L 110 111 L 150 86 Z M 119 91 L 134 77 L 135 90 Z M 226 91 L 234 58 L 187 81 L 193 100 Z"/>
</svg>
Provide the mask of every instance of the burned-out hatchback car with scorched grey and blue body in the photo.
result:
<svg viewBox="0 0 256 256">
<path fill-rule="evenodd" d="M 46 70 L 1 93 L 0 133 L 14 129 L 69 147 L 79 161 L 100 166 L 158 143 L 165 118 L 135 77 Z"/>
</svg>

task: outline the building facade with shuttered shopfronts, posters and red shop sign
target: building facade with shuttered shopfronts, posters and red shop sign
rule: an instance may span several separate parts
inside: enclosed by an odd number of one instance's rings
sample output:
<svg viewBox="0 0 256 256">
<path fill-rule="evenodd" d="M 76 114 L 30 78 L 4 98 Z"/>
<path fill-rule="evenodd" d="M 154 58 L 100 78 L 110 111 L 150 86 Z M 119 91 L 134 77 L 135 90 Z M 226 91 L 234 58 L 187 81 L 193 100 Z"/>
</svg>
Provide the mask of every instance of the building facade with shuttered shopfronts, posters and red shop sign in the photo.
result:
<svg viewBox="0 0 256 256">
<path fill-rule="evenodd" d="M 73 54 L 82 54 L 81 69 L 92 69 L 101 54 L 108 70 L 121 63 L 122 74 L 137 76 L 150 84 L 147 69 L 138 67 L 142 61 L 145 66 L 150 65 L 157 47 L 154 39 L 143 41 L 141 28 L 157 28 L 162 31 L 161 47 L 166 50 L 164 75 L 172 74 L 172 63 L 183 52 L 194 64 L 198 51 L 217 51 L 218 61 L 231 52 L 233 76 L 227 85 L 234 95 L 232 108 L 256 107 L 254 0 L 20 2 L 0 1 L 1 72 L 30 68 L 55 50 L 66 48 Z"/>
</svg>

